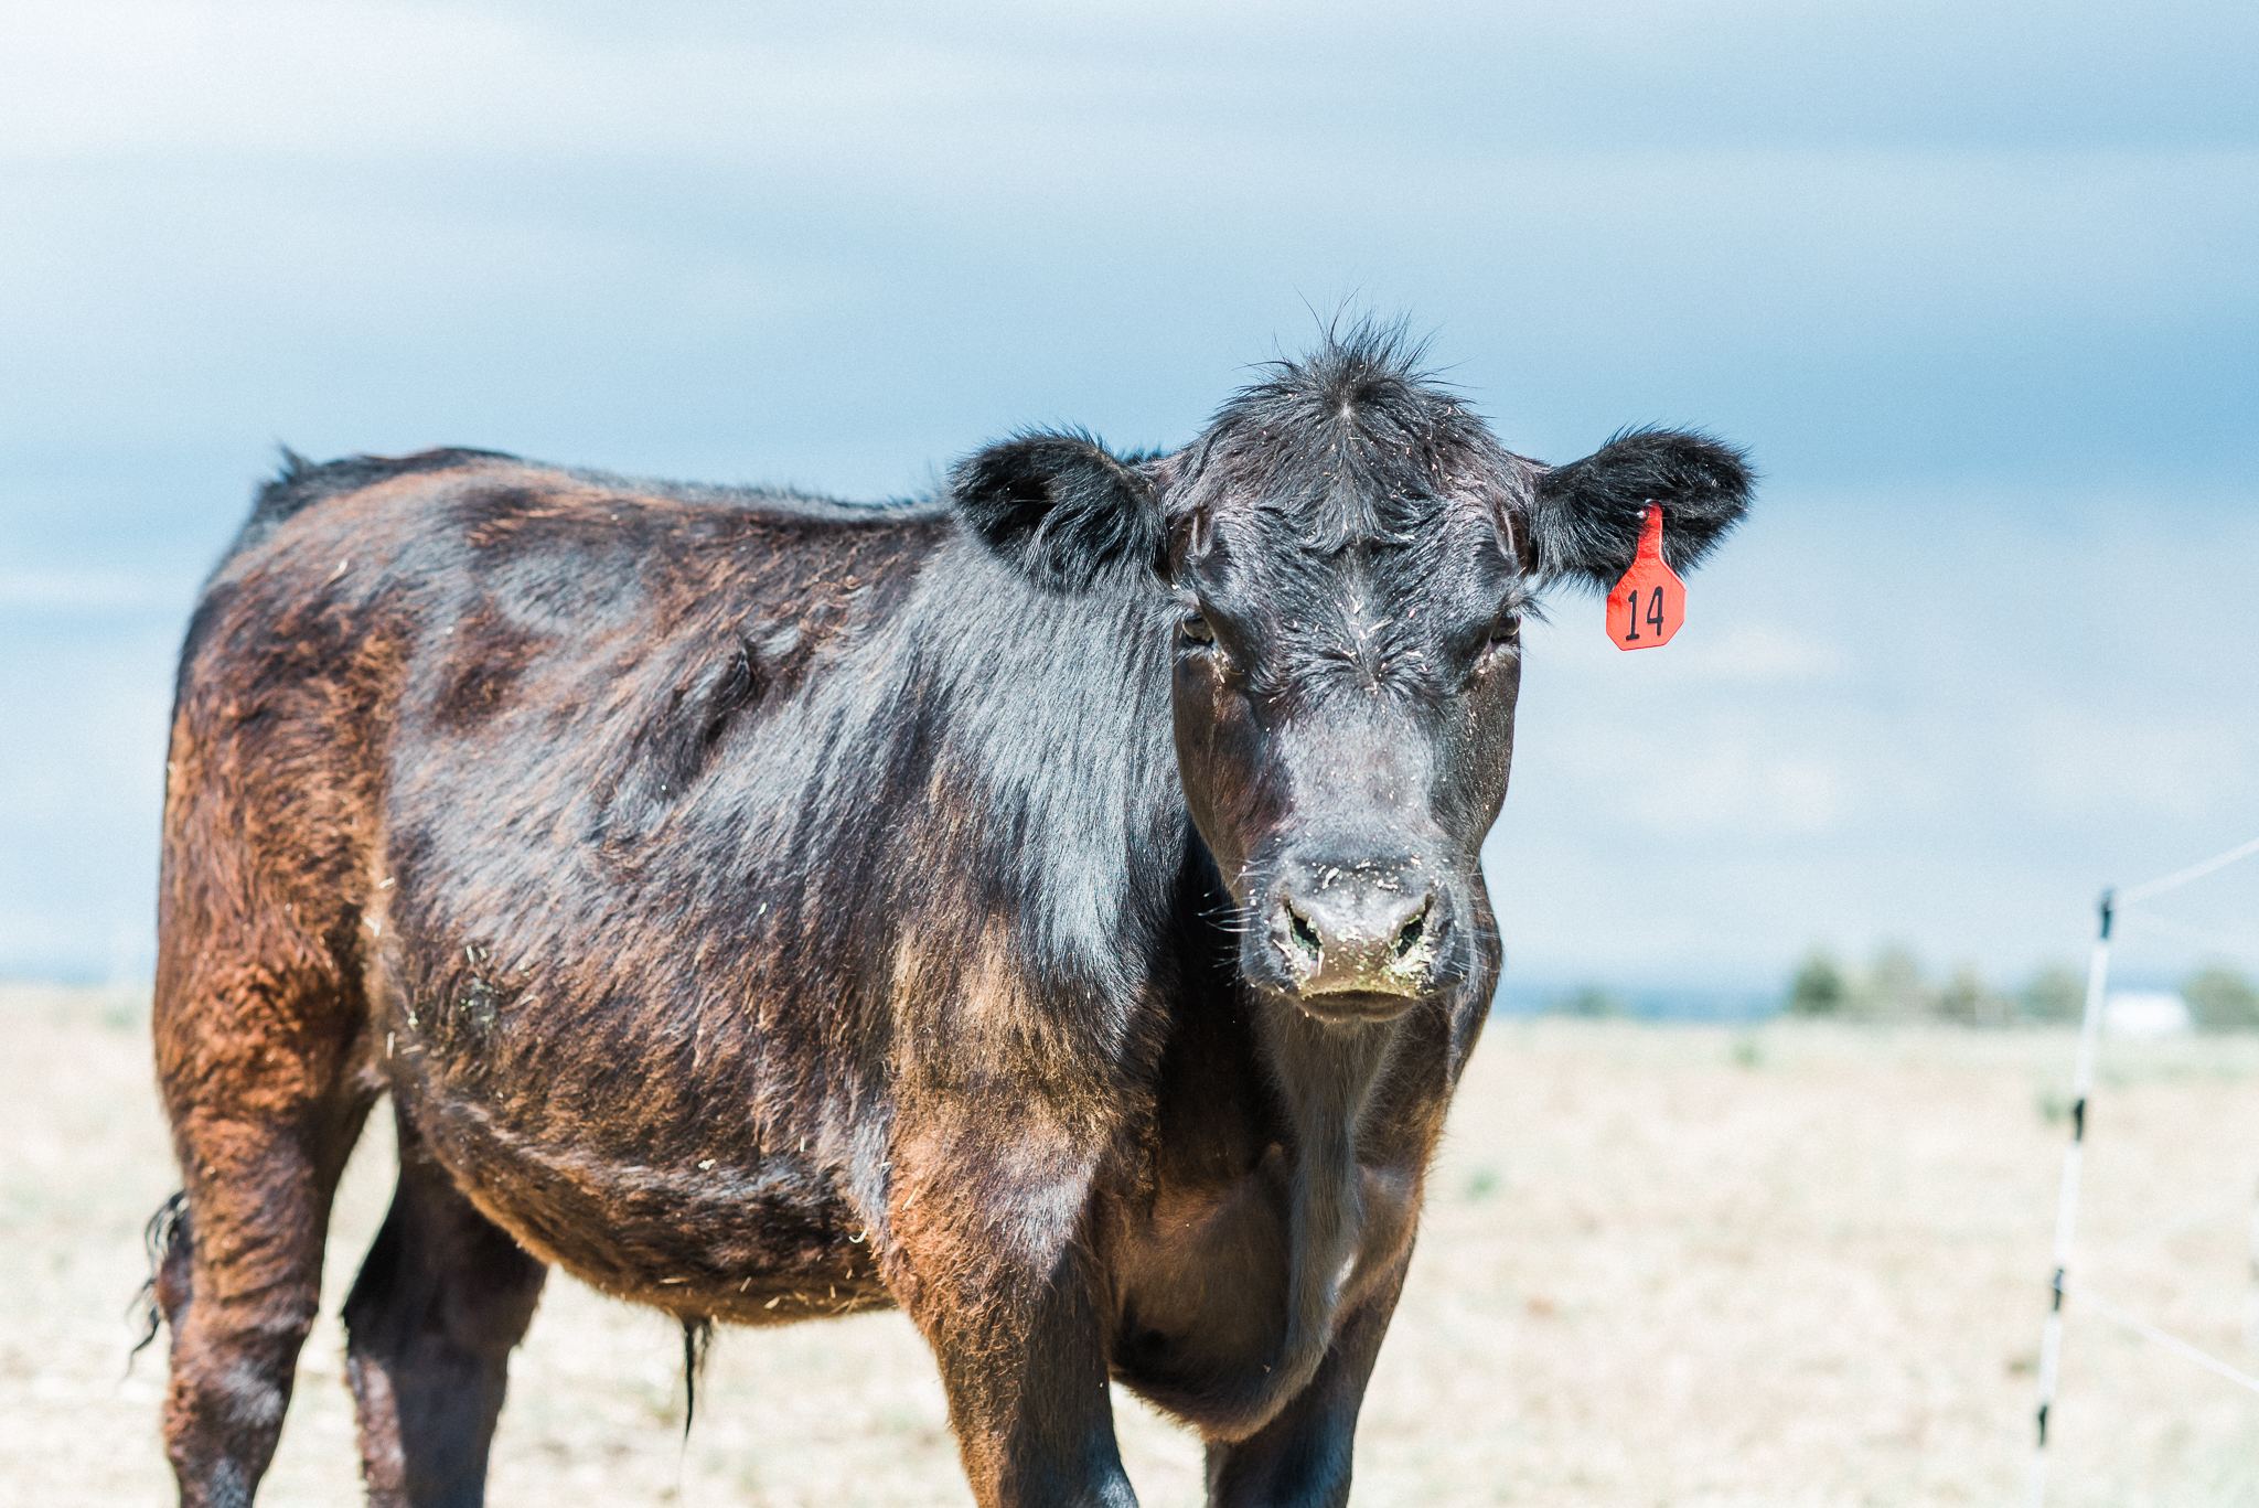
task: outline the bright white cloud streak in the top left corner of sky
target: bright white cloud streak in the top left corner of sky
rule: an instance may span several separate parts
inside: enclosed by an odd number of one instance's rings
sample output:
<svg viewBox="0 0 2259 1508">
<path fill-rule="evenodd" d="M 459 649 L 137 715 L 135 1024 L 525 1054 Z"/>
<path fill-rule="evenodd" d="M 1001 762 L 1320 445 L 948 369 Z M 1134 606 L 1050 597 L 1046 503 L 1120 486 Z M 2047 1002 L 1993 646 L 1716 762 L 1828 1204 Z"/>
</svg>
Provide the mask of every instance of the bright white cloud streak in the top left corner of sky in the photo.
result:
<svg viewBox="0 0 2259 1508">
<path fill-rule="evenodd" d="M 535 7 L 25 0 L 7 23 L 0 140 L 14 161 L 666 154 L 874 170 L 874 145 L 933 158 L 965 136 L 906 138 L 910 124 L 1087 104 L 1123 72 L 1062 59 L 1030 77 L 978 32 L 716 18 L 614 32 Z"/>
</svg>

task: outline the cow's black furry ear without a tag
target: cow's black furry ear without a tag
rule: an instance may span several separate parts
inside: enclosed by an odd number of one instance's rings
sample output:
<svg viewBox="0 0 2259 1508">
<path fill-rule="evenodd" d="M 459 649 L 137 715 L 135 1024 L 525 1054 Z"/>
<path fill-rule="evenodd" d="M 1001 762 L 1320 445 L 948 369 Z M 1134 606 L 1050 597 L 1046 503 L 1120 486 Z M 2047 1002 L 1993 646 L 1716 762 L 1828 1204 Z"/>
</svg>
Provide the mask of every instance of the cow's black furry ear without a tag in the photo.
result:
<svg viewBox="0 0 2259 1508">
<path fill-rule="evenodd" d="M 967 529 L 1055 592 L 1161 561 L 1161 488 L 1089 434 L 989 445 L 949 470 L 949 493 Z"/>
</svg>

